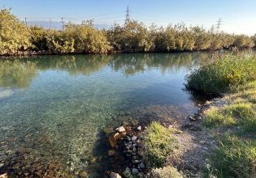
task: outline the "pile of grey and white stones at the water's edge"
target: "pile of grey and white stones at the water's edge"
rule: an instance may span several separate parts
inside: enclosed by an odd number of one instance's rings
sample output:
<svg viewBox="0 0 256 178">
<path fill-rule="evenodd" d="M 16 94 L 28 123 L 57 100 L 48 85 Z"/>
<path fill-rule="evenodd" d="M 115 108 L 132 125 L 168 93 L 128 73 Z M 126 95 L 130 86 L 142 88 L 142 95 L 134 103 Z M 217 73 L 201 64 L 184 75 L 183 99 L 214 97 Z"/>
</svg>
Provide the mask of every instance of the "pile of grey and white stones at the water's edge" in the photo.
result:
<svg viewBox="0 0 256 178">
<path fill-rule="evenodd" d="M 137 176 L 140 172 L 145 172 L 145 163 L 142 159 L 142 138 L 139 135 L 141 126 L 132 127 L 130 125 L 120 126 L 108 138 L 111 150 L 109 156 L 119 155 L 124 160 L 122 165 L 123 172 L 111 172 L 111 177 L 130 177 Z"/>
</svg>

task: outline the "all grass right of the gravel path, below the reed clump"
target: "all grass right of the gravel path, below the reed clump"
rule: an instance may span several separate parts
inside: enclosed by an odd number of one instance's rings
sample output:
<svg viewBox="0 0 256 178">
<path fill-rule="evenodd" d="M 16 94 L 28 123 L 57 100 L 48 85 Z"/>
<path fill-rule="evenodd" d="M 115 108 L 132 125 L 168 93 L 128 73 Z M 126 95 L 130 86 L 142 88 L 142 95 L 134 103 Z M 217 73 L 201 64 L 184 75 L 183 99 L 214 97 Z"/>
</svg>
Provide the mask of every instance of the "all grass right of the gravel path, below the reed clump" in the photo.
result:
<svg viewBox="0 0 256 178">
<path fill-rule="evenodd" d="M 219 145 L 210 156 L 209 172 L 217 177 L 256 177 L 255 93 L 256 82 L 248 83 L 223 98 L 227 105 L 205 112 L 206 127 L 231 130 L 216 137 Z"/>
</svg>

